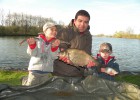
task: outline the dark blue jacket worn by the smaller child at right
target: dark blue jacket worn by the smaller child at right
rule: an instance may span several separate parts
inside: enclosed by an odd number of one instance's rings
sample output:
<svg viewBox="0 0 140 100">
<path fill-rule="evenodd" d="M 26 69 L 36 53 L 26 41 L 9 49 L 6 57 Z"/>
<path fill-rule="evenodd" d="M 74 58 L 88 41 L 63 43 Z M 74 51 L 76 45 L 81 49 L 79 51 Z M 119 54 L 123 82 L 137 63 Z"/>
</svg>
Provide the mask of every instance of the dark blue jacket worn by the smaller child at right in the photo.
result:
<svg viewBox="0 0 140 100">
<path fill-rule="evenodd" d="M 120 72 L 119 64 L 116 63 L 116 59 L 114 56 L 110 56 L 110 59 L 108 59 L 106 64 L 105 64 L 105 61 L 103 60 L 103 58 L 100 56 L 100 54 L 97 55 L 97 60 L 103 65 L 101 68 L 109 67 L 109 68 L 114 69 L 118 73 Z M 98 68 L 98 67 L 96 67 L 96 68 Z M 114 76 L 101 72 L 101 69 L 98 69 L 97 73 L 98 73 L 98 76 L 101 78 L 105 78 L 105 79 L 114 81 Z"/>
</svg>

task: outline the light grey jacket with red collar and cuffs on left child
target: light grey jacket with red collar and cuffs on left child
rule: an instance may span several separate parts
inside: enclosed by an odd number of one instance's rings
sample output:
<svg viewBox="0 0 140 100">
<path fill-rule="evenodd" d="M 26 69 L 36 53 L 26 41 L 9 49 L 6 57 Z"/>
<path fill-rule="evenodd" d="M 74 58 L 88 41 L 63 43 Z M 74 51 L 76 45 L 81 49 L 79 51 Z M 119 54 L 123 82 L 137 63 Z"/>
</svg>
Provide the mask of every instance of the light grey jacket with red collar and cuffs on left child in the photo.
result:
<svg viewBox="0 0 140 100">
<path fill-rule="evenodd" d="M 36 44 L 28 45 L 27 53 L 31 56 L 28 70 L 53 72 L 53 62 L 57 59 L 59 48 L 52 48 L 51 41 L 44 34 L 36 39 Z"/>
</svg>

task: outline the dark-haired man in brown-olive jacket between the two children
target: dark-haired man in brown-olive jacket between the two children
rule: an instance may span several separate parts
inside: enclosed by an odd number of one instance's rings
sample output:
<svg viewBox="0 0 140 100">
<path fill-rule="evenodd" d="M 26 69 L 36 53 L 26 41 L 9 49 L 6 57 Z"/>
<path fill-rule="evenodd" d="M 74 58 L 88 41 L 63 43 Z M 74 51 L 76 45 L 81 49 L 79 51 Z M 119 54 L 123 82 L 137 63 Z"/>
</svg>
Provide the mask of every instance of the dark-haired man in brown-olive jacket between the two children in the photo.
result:
<svg viewBox="0 0 140 100">
<path fill-rule="evenodd" d="M 91 55 L 92 35 L 89 32 L 89 21 L 89 13 L 85 10 L 79 10 L 75 15 L 75 19 L 72 19 L 70 24 L 64 29 L 60 30 L 57 34 L 58 39 L 69 42 L 71 44 L 60 44 L 60 49 L 66 50 L 68 48 L 76 48 L 84 50 Z M 68 58 L 60 59 L 63 61 L 60 61 L 58 59 L 54 61 L 54 75 L 76 77 L 81 77 L 84 75 L 85 68 L 75 67 L 68 64 Z M 94 66 L 94 63 L 92 61 L 89 61 L 87 67 L 91 66 Z"/>
</svg>

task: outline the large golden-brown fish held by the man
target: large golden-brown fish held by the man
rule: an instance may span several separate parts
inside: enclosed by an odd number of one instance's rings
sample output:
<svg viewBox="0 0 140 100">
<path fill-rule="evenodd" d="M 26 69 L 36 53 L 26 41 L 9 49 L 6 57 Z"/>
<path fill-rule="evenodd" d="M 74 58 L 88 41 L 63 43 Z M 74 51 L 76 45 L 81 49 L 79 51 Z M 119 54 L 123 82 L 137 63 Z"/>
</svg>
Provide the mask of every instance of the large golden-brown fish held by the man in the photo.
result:
<svg viewBox="0 0 140 100">
<path fill-rule="evenodd" d="M 85 51 L 79 49 L 67 49 L 65 51 L 61 51 L 59 53 L 59 57 L 67 57 L 70 60 L 70 64 L 77 67 L 85 67 L 89 61 L 93 61 L 95 66 L 101 66 L 96 59 L 87 54 Z"/>
</svg>

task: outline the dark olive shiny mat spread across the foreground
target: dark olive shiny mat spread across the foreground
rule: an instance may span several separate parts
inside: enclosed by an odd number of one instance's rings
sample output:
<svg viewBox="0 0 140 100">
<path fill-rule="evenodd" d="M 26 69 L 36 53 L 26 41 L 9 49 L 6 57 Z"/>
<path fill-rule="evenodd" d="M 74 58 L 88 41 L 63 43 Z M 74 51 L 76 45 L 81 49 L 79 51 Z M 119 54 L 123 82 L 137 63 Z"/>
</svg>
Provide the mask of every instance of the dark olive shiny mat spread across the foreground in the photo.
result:
<svg viewBox="0 0 140 100">
<path fill-rule="evenodd" d="M 140 100 L 137 85 L 96 76 L 58 77 L 37 86 L 0 84 L 0 100 Z"/>
</svg>

